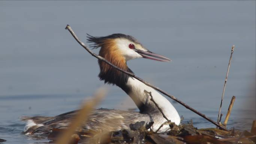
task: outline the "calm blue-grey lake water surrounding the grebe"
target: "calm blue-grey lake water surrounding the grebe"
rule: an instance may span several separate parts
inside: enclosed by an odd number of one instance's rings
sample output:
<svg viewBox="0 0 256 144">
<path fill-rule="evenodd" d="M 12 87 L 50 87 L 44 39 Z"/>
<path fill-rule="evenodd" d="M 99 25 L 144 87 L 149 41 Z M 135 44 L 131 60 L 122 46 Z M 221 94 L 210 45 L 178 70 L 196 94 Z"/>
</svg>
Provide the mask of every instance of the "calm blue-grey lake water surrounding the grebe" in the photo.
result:
<svg viewBox="0 0 256 144">
<path fill-rule="evenodd" d="M 136 59 L 129 68 L 196 110 L 217 119 L 231 46 L 223 119 L 237 96 L 228 128 L 250 130 L 255 116 L 255 1 L 0 1 L 0 138 L 4 144 L 41 144 L 21 134 L 21 116 L 54 116 L 79 108 L 100 87 L 98 107 L 135 108 L 118 87 L 104 85 L 97 59 L 65 30 L 129 34 L 173 61 Z M 98 53 L 98 50 L 94 50 Z M 172 101 L 184 122 L 211 123 Z"/>
</svg>

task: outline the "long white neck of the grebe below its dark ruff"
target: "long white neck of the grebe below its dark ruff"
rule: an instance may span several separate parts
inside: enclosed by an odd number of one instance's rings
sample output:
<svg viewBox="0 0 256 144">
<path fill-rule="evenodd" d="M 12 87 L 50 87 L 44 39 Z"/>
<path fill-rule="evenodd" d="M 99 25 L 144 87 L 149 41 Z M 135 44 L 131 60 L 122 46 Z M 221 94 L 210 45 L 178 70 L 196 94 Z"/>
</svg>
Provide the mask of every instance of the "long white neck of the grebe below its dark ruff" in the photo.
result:
<svg viewBox="0 0 256 144">
<path fill-rule="evenodd" d="M 156 105 L 150 100 L 150 95 L 145 93 L 144 90 L 151 92 L 154 101 L 162 109 L 165 116 L 171 120 L 171 122 L 180 124 L 180 116 L 173 105 L 164 96 L 159 94 L 155 89 L 145 85 L 137 79 L 132 77 L 128 78 L 127 86 L 129 88 L 128 95 L 135 102 L 141 113 L 150 113 L 152 111 L 159 111 Z M 160 111 L 159 111 L 160 112 Z M 163 121 L 166 121 L 163 118 Z"/>
</svg>

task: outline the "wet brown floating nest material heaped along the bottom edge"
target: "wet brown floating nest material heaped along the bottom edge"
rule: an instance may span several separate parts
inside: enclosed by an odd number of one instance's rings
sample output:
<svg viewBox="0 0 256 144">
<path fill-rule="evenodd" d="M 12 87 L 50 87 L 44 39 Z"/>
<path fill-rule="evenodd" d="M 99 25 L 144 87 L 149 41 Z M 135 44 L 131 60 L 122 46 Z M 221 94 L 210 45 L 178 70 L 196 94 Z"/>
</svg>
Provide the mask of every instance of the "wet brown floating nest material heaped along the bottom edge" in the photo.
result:
<svg viewBox="0 0 256 144">
<path fill-rule="evenodd" d="M 150 129 L 153 124 L 136 122 L 130 124 L 130 129 L 113 132 L 76 132 L 71 136 L 69 144 L 255 144 L 255 121 L 252 131 L 231 129 L 223 131 L 216 128 L 197 129 L 192 123 L 175 125 L 168 123 L 171 130 L 156 133 Z M 167 124 L 167 125 L 168 125 Z M 254 128 L 254 129 L 253 129 Z M 63 131 L 54 129 L 48 136 L 51 143 Z"/>
</svg>

